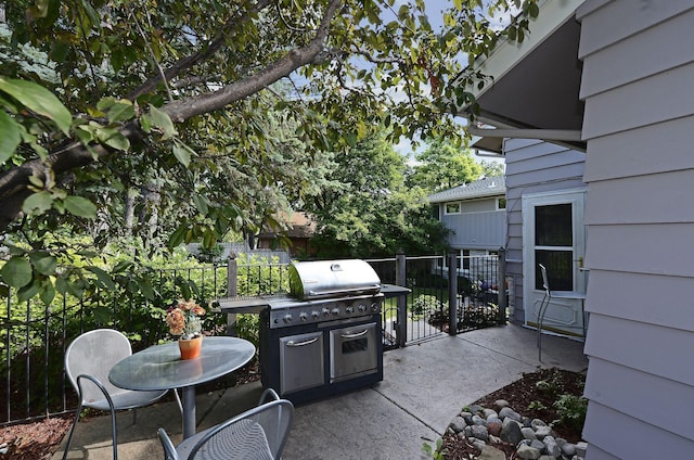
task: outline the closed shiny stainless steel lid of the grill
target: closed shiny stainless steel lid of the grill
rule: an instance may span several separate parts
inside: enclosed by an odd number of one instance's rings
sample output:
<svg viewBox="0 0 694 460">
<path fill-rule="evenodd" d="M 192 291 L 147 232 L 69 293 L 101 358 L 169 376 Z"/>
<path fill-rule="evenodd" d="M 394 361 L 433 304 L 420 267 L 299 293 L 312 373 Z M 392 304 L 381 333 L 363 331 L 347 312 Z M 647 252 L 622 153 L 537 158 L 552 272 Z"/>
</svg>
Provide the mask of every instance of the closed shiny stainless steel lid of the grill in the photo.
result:
<svg viewBox="0 0 694 460">
<path fill-rule="evenodd" d="M 297 298 L 377 294 L 380 290 L 381 279 L 360 259 L 298 261 L 290 266 L 290 294 Z"/>
</svg>

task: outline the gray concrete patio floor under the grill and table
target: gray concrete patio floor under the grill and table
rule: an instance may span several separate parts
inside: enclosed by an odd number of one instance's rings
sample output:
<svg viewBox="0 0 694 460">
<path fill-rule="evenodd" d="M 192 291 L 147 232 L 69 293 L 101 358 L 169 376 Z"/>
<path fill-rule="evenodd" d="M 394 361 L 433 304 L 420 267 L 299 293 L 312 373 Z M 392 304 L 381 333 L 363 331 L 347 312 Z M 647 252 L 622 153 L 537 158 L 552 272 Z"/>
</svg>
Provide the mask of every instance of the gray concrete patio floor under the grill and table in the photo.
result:
<svg viewBox="0 0 694 460">
<path fill-rule="evenodd" d="M 538 361 L 536 331 L 505 325 L 440 335 L 386 352 L 384 380 L 368 388 L 296 407 L 285 460 L 425 459 L 424 443 L 434 444 L 458 411 L 538 367 L 584 371 L 582 342 L 547 335 Z M 257 403 L 259 382 L 197 395 L 197 427 L 211 426 Z M 118 455 L 123 459 L 163 458 L 156 438 L 165 427 L 181 440 L 176 403 L 162 403 L 118 416 Z M 53 455 L 63 456 L 64 443 Z M 80 421 L 68 459 L 111 459 L 108 417 Z"/>
</svg>

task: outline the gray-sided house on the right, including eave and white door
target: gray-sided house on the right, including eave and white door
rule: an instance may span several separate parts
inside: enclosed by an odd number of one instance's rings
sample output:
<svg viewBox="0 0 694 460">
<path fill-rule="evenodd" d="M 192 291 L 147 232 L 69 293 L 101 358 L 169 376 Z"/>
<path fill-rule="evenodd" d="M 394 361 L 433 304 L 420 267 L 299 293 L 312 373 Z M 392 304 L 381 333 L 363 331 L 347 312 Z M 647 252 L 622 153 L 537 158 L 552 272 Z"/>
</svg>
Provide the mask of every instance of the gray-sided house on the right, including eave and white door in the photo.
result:
<svg viewBox="0 0 694 460">
<path fill-rule="evenodd" d="M 498 131 L 476 133 L 506 155 L 522 305 L 539 260 L 557 290 L 583 264 L 587 459 L 691 458 L 694 2 L 539 3 L 526 41 L 475 64 L 494 77 L 478 120 Z"/>
</svg>

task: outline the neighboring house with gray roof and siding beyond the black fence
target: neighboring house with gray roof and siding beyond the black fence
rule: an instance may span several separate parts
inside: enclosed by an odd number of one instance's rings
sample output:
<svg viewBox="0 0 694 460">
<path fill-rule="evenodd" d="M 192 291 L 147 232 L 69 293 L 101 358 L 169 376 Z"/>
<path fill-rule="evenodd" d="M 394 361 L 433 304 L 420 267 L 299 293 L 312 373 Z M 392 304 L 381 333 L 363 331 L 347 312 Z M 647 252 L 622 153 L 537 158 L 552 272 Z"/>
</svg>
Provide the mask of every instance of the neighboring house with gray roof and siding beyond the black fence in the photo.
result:
<svg viewBox="0 0 694 460">
<path fill-rule="evenodd" d="M 497 254 L 506 242 L 505 178 L 490 177 L 428 196 L 461 257 Z M 463 259 L 470 260 L 470 259 Z"/>
</svg>

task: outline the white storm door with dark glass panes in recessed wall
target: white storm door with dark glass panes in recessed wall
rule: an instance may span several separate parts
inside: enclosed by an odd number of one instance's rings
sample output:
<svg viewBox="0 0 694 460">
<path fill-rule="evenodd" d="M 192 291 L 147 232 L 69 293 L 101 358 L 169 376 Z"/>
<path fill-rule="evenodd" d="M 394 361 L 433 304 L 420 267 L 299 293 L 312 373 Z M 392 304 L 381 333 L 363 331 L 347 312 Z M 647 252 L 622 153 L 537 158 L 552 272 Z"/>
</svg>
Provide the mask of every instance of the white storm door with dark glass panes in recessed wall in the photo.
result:
<svg viewBox="0 0 694 460">
<path fill-rule="evenodd" d="M 552 291 L 586 292 L 583 190 L 523 196 L 523 292 L 526 324 L 537 327 L 544 296 L 539 264 Z M 543 330 L 582 335 L 581 301 L 553 298 Z"/>
</svg>

